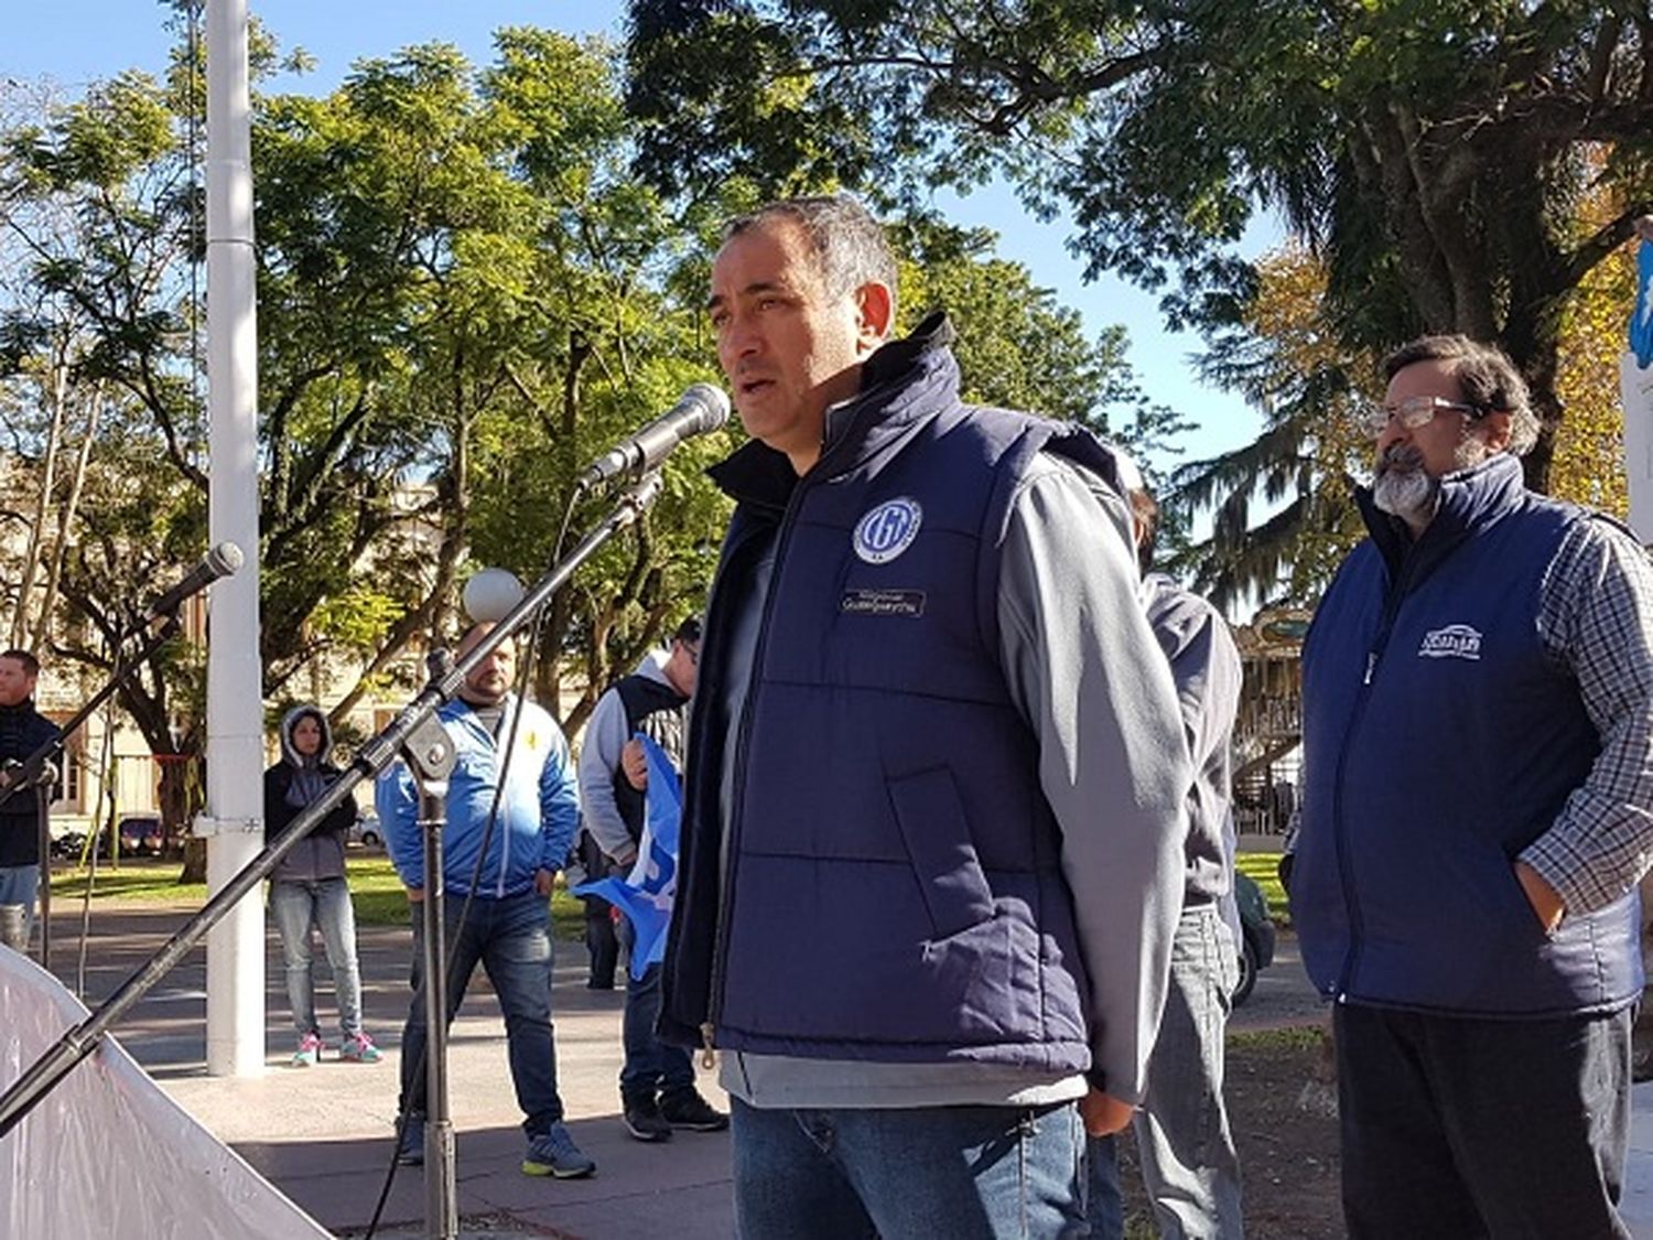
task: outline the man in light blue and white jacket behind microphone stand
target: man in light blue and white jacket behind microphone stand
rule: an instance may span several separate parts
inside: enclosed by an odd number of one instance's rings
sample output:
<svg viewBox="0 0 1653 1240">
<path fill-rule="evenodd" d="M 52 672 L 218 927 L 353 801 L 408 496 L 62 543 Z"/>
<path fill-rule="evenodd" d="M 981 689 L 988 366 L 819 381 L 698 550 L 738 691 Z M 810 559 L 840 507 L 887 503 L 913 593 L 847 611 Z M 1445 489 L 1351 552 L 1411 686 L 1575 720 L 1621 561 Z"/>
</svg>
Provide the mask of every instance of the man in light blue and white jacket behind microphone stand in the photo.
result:
<svg viewBox="0 0 1653 1240">
<path fill-rule="evenodd" d="M 474 625 L 460 641 L 460 658 L 491 630 L 491 623 Z M 564 1128 L 557 1095 L 557 1052 L 550 1032 L 550 885 L 574 842 L 580 800 L 569 742 L 544 709 L 511 693 L 514 668 L 516 650 L 507 640 L 473 668 L 458 701 L 438 713 L 456 756 L 443 832 L 443 926 L 451 961 L 448 1020 L 460 1010 L 479 961 L 499 995 L 511 1080 L 526 1116 L 522 1171 L 572 1179 L 590 1176 L 597 1164 L 580 1152 Z M 400 1159 L 417 1166 L 425 1161 L 425 995 L 420 990 L 425 845 L 418 828 L 418 792 L 405 764 L 398 762 L 380 777 L 375 800 L 390 860 L 413 909 L 415 994 L 402 1030 Z"/>
</svg>

